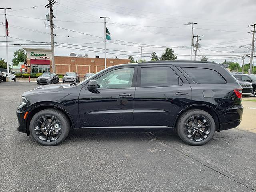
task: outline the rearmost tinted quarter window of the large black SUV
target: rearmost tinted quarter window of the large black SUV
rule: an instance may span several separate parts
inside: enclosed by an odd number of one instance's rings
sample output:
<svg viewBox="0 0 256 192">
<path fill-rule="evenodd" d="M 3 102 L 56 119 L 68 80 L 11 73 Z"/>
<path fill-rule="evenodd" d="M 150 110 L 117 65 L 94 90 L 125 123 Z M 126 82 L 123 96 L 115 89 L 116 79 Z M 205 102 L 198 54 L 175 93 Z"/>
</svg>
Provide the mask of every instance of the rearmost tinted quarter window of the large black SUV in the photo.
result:
<svg viewBox="0 0 256 192">
<path fill-rule="evenodd" d="M 226 80 L 218 72 L 205 68 L 182 67 L 188 76 L 200 84 L 224 84 Z"/>
</svg>

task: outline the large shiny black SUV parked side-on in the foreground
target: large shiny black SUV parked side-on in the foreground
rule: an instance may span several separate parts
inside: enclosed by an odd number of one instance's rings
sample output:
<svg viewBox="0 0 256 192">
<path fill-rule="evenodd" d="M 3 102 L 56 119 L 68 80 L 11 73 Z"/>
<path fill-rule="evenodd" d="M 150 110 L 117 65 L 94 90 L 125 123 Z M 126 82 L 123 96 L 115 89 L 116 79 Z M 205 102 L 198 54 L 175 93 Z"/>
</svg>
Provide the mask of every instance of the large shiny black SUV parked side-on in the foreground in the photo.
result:
<svg viewBox="0 0 256 192">
<path fill-rule="evenodd" d="M 128 78 L 112 78 L 126 74 Z M 46 146 L 73 129 L 177 130 L 190 145 L 238 126 L 242 87 L 222 64 L 163 61 L 122 64 L 72 85 L 22 94 L 18 131 Z"/>
</svg>

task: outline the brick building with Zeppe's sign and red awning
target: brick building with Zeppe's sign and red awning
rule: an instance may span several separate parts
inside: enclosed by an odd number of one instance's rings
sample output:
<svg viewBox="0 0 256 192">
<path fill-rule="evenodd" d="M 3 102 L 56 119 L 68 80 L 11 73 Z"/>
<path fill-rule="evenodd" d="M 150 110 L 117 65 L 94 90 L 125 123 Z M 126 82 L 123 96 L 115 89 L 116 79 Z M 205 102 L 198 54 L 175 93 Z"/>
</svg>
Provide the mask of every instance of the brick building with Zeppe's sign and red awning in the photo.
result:
<svg viewBox="0 0 256 192">
<path fill-rule="evenodd" d="M 27 52 L 27 72 L 52 72 L 51 49 L 23 48 Z M 104 58 L 55 56 L 55 71 L 57 74 L 77 72 L 80 76 L 86 73 L 96 73 L 104 69 Z M 107 67 L 130 63 L 129 59 L 106 59 Z"/>
</svg>

